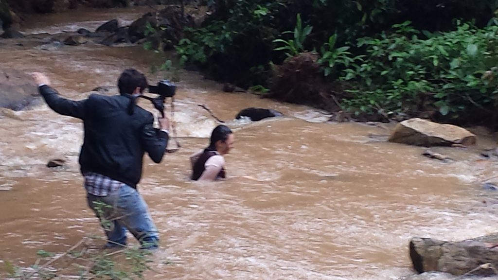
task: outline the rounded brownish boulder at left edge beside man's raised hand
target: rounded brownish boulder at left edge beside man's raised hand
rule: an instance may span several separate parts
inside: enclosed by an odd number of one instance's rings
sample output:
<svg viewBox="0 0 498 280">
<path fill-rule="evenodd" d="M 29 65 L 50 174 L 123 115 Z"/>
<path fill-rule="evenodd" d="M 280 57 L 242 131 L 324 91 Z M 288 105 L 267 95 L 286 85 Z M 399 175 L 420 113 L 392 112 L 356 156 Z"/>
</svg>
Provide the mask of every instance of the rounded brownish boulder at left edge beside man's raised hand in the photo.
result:
<svg viewBox="0 0 498 280">
<path fill-rule="evenodd" d="M 26 73 L 0 69 L 0 107 L 21 110 L 38 96 L 38 88 Z"/>
</svg>

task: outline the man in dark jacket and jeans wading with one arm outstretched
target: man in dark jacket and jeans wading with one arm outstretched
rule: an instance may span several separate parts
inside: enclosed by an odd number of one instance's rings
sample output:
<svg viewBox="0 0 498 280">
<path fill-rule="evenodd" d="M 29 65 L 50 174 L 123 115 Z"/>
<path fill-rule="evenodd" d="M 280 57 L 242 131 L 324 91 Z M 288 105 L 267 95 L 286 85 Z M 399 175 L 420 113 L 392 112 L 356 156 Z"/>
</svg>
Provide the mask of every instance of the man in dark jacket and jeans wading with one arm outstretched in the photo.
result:
<svg viewBox="0 0 498 280">
<path fill-rule="evenodd" d="M 101 223 L 108 237 L 106 247 L 125 246 L 128 229 L 142 248 L 157 248 L 157 230 L 136 184 L 145 152 L 155 163 L 162 160 L 169 120 L 160 118 L 160 130 L 154 129 L 152 114 L 134 103 L 132 96 L 148 86 L 145 76 L 134 69 L 124 70 L 118 80 L 120 95 L 92 94 L 80 101 L 59 96 L 41 73 L 33 73 L 33 78 L 52 110 L 83 120 L 85 137 L 79 162 L 88 205 L 102 221 L 110 221 L 110 225 Z"/>
</svg>

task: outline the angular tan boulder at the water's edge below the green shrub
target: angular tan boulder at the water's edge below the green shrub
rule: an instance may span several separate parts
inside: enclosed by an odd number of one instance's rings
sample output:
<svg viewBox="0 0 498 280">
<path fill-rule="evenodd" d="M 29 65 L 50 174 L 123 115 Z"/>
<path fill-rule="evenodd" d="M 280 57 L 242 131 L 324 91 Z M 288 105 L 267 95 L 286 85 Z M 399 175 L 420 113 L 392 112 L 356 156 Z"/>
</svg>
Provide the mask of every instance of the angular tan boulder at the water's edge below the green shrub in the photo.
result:
<svg viewBox="0 0 498 280">
<path fill-rule="evenodd" d="M 422 119 L 403 121 L 394 128 L 389 141 L 418 146 L 473 145 L 476 136 L 466 129 Z"/>
</svg>

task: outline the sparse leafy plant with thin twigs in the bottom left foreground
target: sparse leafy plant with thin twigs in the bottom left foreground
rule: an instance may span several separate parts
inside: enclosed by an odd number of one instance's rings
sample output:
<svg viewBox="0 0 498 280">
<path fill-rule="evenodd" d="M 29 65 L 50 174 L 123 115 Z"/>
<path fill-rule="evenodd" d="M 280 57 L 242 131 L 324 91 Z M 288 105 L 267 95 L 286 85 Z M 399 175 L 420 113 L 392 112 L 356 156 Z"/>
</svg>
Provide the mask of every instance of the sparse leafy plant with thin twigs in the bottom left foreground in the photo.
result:
<svg viewBox="0 0 498 280">
<path fill-rule="evenodd" d="M 97 212 L 104 213 L 110 205 L 96 203 Z M 101 216 L 102 217 L 102 216 Z M 112 220 L 101 219 L 104 227 Z M 125 247 L 118 251 L 95 249 L 94 242 L 102 237 L 84 237 L 69 250 L 55 254 L 38 250 L 38 259 L 29 267 L 17 267 L 4 263 L 5 280 L 135 280 L 144 279 L 144 273 L 151 270 L 151 253 L 138 246 Z M 170 262 L 168 262 L 170 264 Z M 1 276 L 1 275 L 0 275 Z"/>
</svg>

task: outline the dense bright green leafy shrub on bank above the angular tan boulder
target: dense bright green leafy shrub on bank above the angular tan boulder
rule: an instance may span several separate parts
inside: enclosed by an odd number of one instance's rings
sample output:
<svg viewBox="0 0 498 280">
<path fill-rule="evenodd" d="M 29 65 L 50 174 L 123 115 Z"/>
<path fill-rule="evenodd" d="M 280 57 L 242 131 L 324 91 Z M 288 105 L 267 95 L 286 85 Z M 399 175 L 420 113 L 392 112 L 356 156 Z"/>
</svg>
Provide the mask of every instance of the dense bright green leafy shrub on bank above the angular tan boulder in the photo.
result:
<svg viewBox="0 0 498 280">
<path fill-rule="evenodd" d="M 391 34 L 364 37 L 365 61 L 344 71 L 356 114 L 437 111 L 444 119 L 483 118 L 497 104 L 497 26 L 460 24 L 445 33 L 419 32 L 409 22 Z M 424 36 L 425 38 L 419 38 Z"/>
</svg>

